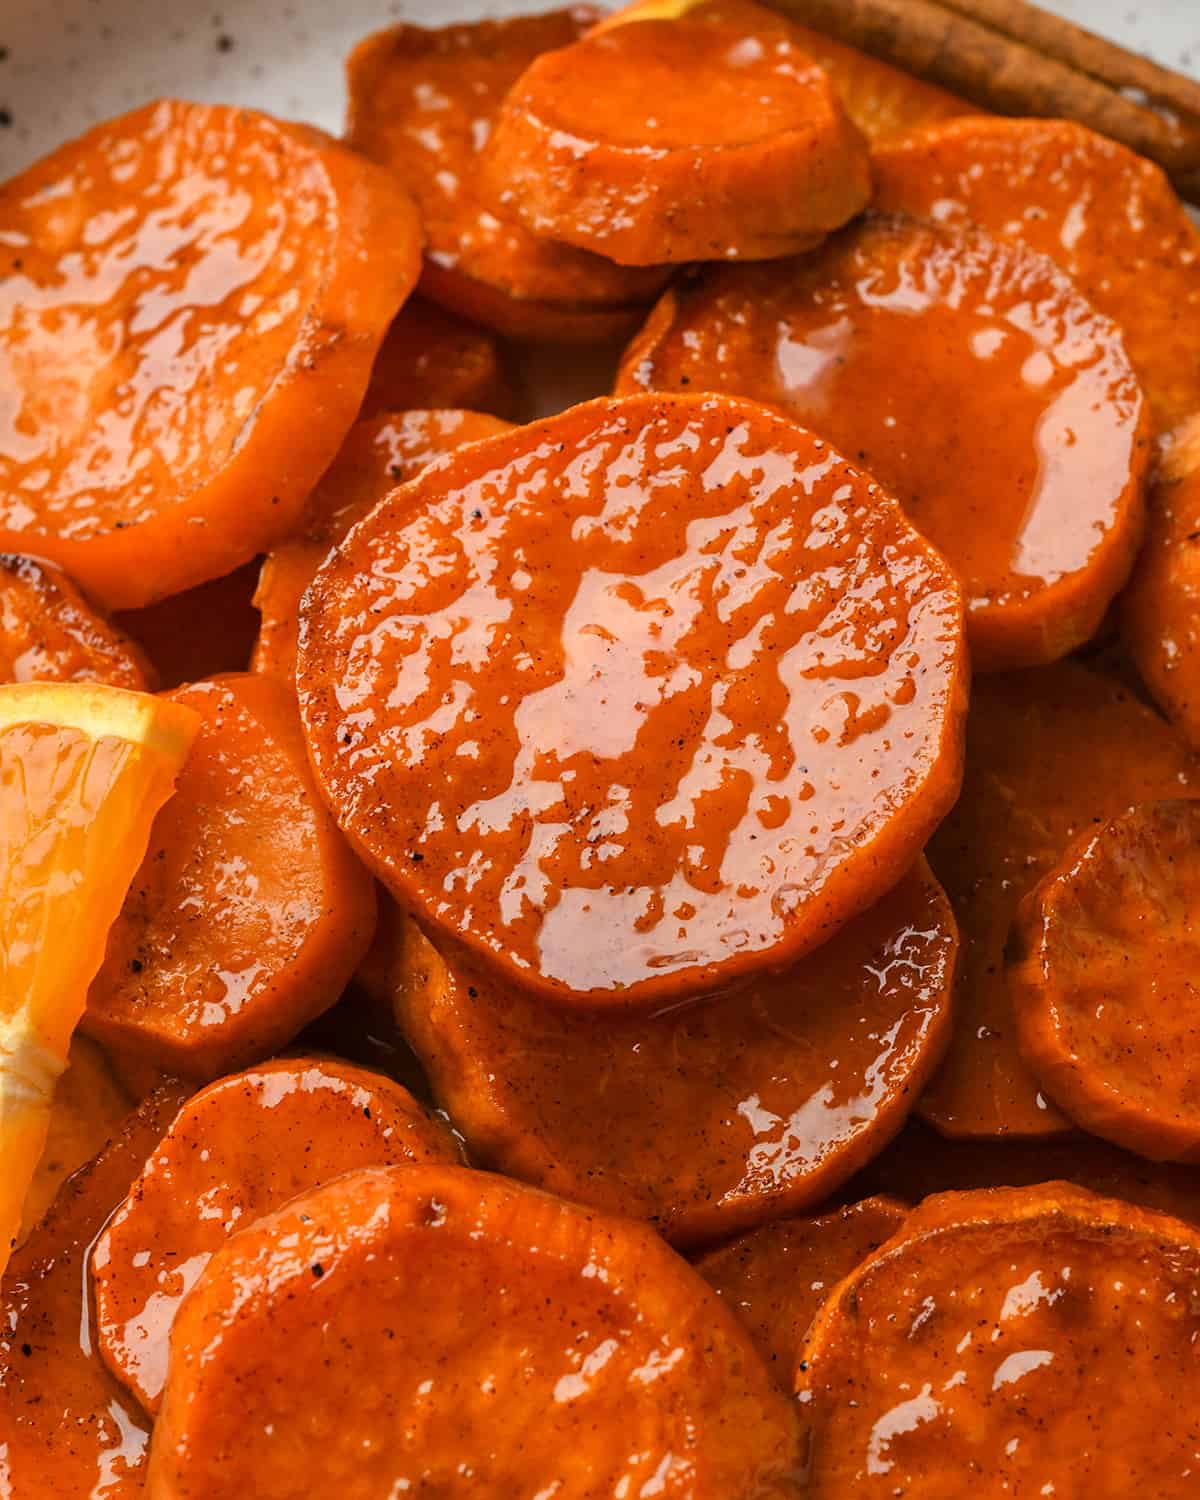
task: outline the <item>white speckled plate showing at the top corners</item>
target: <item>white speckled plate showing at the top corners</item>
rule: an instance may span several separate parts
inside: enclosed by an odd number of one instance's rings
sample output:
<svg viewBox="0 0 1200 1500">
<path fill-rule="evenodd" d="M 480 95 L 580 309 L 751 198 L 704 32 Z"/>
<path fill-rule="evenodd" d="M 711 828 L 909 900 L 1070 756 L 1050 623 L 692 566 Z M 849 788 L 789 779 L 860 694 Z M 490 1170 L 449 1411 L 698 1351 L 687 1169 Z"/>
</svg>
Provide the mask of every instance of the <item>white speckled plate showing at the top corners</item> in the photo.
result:
<svg viewBox="0 0 1200 1500">
<path fill-rule="evenodd" d="M 554 3 L 561 0 L 0 0 L 0 177 L 156 94 L 258 105 L 338 130 L 342 58 L 368 32 Z M 1050 8 L 1200 72 L 1200 0 Z"/>
</svg>

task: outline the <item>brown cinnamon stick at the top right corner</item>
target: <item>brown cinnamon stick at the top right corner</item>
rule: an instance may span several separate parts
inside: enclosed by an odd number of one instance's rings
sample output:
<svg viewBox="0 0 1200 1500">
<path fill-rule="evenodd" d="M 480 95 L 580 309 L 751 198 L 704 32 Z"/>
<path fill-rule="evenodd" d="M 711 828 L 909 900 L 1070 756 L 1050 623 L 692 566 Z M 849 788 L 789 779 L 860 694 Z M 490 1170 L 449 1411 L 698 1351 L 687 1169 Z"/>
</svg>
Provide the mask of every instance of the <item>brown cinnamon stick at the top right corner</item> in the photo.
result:
<svg viewBox="0 0 1200 1500">
<path fill-rule="evenodd" d="M 1200 201 L 1200 129 L 1137 104 L 1090 74 L 948 4 L 934 0 L 772 0 L 772 4 L 804 26 L 998 114 L 1077 120 L 1149 156 L 1185 196 Z M 1011 6 L 1004 9 L 1011 16 Z"/>
</svg>

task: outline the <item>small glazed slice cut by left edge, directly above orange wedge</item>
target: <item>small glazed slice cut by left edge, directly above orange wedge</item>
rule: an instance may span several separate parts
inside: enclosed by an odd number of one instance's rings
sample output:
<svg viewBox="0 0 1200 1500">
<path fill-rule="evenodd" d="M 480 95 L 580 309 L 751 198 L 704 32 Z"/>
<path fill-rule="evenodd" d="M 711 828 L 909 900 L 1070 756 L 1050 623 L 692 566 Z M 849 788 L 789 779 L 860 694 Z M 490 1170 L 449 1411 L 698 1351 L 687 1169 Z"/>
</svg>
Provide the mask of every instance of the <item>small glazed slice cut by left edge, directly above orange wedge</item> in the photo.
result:
<svg viewBox="0 0 1200 1500">
<path fill-rule="evenodd" d="M 147 692 L 154 670 L 52 562 L 0 554 L 0 681 L 108 682 Z"/>
</svg>

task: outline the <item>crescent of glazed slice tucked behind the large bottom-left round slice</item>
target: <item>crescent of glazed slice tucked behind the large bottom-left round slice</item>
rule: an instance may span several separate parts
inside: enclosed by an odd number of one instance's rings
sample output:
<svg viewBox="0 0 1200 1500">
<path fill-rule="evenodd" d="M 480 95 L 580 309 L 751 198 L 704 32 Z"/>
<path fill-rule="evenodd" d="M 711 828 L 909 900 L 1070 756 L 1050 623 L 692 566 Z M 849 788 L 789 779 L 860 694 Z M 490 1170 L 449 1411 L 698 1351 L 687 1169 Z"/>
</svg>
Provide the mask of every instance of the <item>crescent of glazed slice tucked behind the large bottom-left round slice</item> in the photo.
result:
<svg viewBox="0 0 1200 1500">
<path fill-rule="evenodd" d="M 460 1160 L 406 1089 L 346 1062 L 288 1058 L 208 1084 L 92 1251 L 100 1358 L 158 1412 L 176 1311 L 230 1234 L 356 1167 Z"/>
</svg>

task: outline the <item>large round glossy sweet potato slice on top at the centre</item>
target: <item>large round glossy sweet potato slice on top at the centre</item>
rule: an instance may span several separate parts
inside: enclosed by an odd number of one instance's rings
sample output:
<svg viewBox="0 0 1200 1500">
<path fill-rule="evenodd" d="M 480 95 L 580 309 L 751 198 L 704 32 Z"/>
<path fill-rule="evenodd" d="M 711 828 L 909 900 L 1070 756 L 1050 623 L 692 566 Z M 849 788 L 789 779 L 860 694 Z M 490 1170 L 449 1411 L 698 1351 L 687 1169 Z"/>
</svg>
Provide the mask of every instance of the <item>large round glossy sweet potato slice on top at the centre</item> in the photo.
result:
<svg viewBox="0 0 1200 1500">
<path fill-rule="evenodd" d="M 602 399 L 462 448 L 302 609 L 356 848 L 506 982 L 594 1006 L 778 969 L 952 802 L 962 600 L 874 483 L 765 408 Z"/>
</svg>

